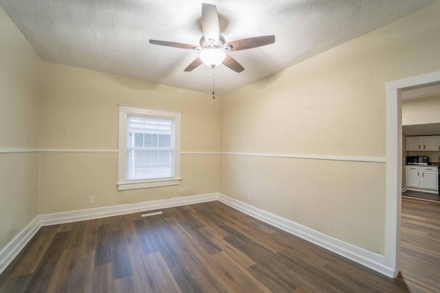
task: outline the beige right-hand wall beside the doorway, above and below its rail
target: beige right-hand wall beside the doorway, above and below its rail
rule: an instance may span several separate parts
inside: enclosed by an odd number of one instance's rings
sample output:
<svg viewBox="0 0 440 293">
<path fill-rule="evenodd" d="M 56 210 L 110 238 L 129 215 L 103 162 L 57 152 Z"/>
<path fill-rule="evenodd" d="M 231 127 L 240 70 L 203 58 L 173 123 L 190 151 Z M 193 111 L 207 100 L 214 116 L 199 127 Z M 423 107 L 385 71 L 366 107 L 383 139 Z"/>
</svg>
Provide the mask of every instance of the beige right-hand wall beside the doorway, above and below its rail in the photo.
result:
<svg viewBox="0 0 440 293">
<path fill-rule="evenodd" d="M 440 3 L 437 2 L 224 95 L 221 97 L 221 151 L 386 156 L 385 83 L 440 70 L 439 15 Z M 238 163 L 243 160 L 250 162 Z M 258 160 L 256 156 L 248 160 L 242 156 L 221 155 L 221 193 L 243 200 L 243 194 L 252 185 L 257 189 L 271 186 L 273 189 L 269 192 L 253 196 L 252 204 L 362 248 L 382 251 L 385 189 L 377 185 L 376 206 L 370 207 L 368 200 L 359 201 L 357 196 L 362 190 L 358 182 L 363 184 L 371 164 L 382 170 L 377 175 L 377 183 L 384 181 L 384 163 L 310 161 L 303 163 L 299 173 L 294 175 L 276 173 L 280 177 L 272 176 L 262 169 L 264 166 L 254 163 Z M 277 170 L 278 165 L 282 170 L 297 166 L 292 159 L 267 160 L 274 161 L 271 166 L 275 167 L 271 170 Z M 230 161 L 233 163 L 228 163 Z M 329 173 L 329 178 L 322 179 L 321 164 L 337 167 Z M 346 167 L 342 167 L 343 164 L 347 164 Z M 230 187 L 231 183 L 234 187 Z M 371 184 L 369 179 L 367 183 L 367 186 Z M 332 198 L 326 198 L 330 201 L 319 211 L 317 206 L 322 204 L 321 193 L 325 191 L 332 191 Z M 370 198 L 368 194 L 366 197 Z M 371 229 L 365 226 L 366 219 L 369 222 L 371 218 L 358 213 L 369 208 L 373 211 L 367 214 L 373 215 L 372 221 L 376 221 L 375 228 Z M 342 218 L 334 218 L 339 217 L 335 215 L 339 212 Z M 331 229 L 318 224 L 326 213 L 333 214 L 333 218 L 330 215 L 327 218 L 332 219 Z M 360 240 L 360 232 L 366 233 L 367 239 L 374 237 L 375 244 Z"/>
</svg>

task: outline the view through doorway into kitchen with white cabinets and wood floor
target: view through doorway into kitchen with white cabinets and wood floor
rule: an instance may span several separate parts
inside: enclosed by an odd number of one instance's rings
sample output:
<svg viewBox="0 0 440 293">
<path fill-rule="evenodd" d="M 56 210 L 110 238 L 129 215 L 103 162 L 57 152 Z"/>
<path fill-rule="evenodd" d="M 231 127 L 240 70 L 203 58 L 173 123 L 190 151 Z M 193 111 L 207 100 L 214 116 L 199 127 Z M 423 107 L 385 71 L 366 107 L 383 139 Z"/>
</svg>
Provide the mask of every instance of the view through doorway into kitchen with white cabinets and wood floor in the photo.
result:
<svg viewBox="0 0 440 293">
<path fill-rule="evenodd" d="M 401 273 L 437 291 L 440 236 L 440 86 L 402 93 Z"/>
</svg>

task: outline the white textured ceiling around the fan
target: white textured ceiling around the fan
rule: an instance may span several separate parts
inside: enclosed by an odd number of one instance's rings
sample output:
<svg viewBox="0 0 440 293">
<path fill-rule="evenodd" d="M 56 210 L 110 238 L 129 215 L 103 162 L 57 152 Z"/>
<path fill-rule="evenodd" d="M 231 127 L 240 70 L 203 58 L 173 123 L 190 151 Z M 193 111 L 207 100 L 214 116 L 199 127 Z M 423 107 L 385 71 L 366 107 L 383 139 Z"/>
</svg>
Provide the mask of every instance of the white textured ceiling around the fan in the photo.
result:
<svg viewBox="0 0 440 293">
<path fill-rule="evenodd" d="M 292 66 L 435 0 L 223 0 L 217 5 L 226 41 L 274 34 L 272 45 L 230 52 L 245 67 L 215 69 L 224 93 Z M 212 69 L 184 72 L 197 51 L 149 39 L 198 45 L 201 3 L 195 0 L 0 0 L 43 60 L 210 93 Z"/>
</svg>

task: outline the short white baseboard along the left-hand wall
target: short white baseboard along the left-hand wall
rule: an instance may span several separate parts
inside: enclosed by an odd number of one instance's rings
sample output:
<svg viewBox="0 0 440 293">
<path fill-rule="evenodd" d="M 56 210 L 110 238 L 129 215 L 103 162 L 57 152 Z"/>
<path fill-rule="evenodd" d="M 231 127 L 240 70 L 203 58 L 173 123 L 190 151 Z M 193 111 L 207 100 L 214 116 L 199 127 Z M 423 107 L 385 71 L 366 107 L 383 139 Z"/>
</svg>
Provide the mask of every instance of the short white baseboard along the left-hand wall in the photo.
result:
<svg viewBox="0 0 440 293">
<path fill-rule="evenodd" d="M 0 250 L 0 274 L 8 268 L 9 264 L 14 260 L 20 251 L 28 244 L 35 233 L 39 231 L 41 225 L 39 216 L 37 215 L 28 226 L 25 226 L 12 240 Z"/>
</svg>

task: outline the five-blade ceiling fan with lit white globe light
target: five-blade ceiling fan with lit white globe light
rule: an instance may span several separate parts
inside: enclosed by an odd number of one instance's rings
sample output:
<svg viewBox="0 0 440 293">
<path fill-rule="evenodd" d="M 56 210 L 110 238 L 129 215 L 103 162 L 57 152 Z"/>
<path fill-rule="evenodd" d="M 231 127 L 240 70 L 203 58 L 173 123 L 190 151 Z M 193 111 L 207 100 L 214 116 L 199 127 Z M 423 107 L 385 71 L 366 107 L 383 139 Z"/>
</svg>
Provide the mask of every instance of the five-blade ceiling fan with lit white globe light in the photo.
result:
<svg viewBox="0 0 440 293">
<path fill-rule="evenodd" d="M 166 40 L 150 40 L 151 44 L 181 49 L 199 50 L 199 58 L 192 61 L 184 71 L 192 71 L 202 63 L 209 67 L 226 65 L 236 72 L 245 70 L 239 62 L 228 55 L 230 51 L 241 51 L 252 49 L 275 43 L 275 36 L 255 36 L 253 38 L 243 38 L 241 40 L 232 40 L 226 42 L 220 34 L 219 14 L 217 7 L 212 4 L 201 4 L 201 25 L 203 27 L 203 36 L 198 45 L 188 45 L 183 43 L 168 42 Z"/>
</svg>

